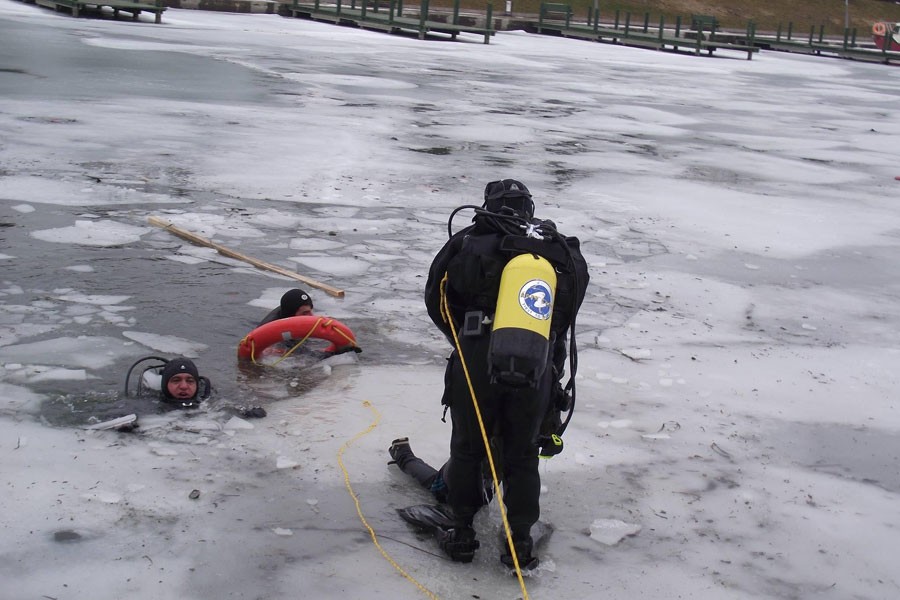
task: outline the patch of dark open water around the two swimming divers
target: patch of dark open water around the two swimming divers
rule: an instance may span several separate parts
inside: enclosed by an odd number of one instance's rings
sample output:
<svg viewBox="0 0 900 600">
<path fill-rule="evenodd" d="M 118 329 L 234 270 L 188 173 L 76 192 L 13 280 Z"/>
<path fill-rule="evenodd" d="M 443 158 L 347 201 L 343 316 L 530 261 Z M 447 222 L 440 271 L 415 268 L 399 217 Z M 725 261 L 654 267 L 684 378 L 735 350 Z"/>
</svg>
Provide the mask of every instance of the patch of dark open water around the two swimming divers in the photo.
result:
<svg viewBox="0 0 900 600">
<path fill-rule="evenodd" d="M 135 209 L 138 210 L 138 209 Z M 316 368 L 318 356 L 313 352 L 290 357 L 277 367 L 259 367 L 237 360 L 240 339 L 250 332 L 266 311 L 247 303 L 259 296 L 260 289 L 289 286 L 262 274 L 235 271 L 216 262 L 192 265 L 167 259 L 181 242 L 166 239 L 164 232 L 145 236 L 145 240 L 121 247 L 90 247 L 78 244 L 54 244 L 29 237 L 34 229 L 49 228 L 70 222 L 83 209 L 54 207 L 46 211 L 19 214 L 0 202 L 0 222 L 11 226 L 0 228 L 0 253 L 16 256 L 4 261 L 3 279 L 23 289 L 23 294 L 8 298 L 9 303 L 41 307 L 29 316 L 35 322 L 58 323 L 59 328 L 46 334 L 28 337 L 31 343 L 60 337 L 108 336 L 120 338 L 123 330 L 177 336 L 208 346 L 195 361 L 202 375 L 213 382 L 212 407 L 266 406 L 288 395 L 302 394 L 321 382 L 328 374 Z M 60 222 L 57 222 L 60 221 Z M 93 267 L 93 272 L 80 273 L 53 268 L 60 264 Z M 134 325 L 122 327 L 93 318 L 85 325 L 72 323 L 66 316 L 68 303 L 58 299 L 60 290 L 75 290 L 97 295 L 130 295 L 120 305 L 133 307 L 122 314 L 133 317 Z M 41 314 L 43 313 L 43 314 Z M 364 351 L 361 363 L 385 364 L 397 360 L 404 351 L 375 343 L 379 324 L 371 319 L 354 319 L 351 324 Z M 311 340 L 310 346 L 324 345 Z M 87 381 L 46 381 L 30 384 L 36 392 L 46 394 L 42 415 L 51 424 L 82 424 L 89 420 L 106 420 L 124 414 L 164 410 L 155 397 L 128 397 L 124 393 L 129 367 L 147 354 L 171 356 L 138 344 L 133 351 L 113 358 L 112 365 L 88 369 Z M 88 348 L 88 351 L 90 349 Z"/>
</svg>

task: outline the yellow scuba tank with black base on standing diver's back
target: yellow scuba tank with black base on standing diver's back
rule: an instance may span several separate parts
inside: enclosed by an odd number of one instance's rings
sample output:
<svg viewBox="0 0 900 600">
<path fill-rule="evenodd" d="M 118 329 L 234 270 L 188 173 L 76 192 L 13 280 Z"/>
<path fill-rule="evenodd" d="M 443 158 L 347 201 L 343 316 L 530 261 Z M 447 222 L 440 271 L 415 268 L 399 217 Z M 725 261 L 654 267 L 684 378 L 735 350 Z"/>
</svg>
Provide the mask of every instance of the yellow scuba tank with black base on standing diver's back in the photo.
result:
<svg viewBox="0 0 900 600">
<path fill-rule="evenodd" d="M 492 381 L 537 386 L 547 366 L 555 295 L 556 271 L 547 259 L 520 254 L 504 267 L 488 353 Z"/>
</svg>

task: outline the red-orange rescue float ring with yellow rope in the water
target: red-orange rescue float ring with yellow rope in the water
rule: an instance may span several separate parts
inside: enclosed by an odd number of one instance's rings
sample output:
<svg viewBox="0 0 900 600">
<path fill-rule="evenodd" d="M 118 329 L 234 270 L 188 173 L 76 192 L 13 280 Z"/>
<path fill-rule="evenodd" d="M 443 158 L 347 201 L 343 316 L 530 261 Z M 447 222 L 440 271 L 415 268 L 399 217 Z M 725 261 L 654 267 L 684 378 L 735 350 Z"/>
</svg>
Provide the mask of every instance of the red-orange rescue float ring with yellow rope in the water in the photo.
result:
<svg viewBox="0 0 900 600">
<path fill-rule="evenodd" d="M 352 346 L 358 348 L 356 336 L 350 328 L 330 317 L 304 315 L 270 321 L 260 325 L 238 344 L 238 358 L 256 360 L 262 356 L 263 350 L 279 342 L 299 340 L 297 345 L 314 337 L 331 342 L 325 352 L 336 352 L 338 348 Z"/>
</svg>

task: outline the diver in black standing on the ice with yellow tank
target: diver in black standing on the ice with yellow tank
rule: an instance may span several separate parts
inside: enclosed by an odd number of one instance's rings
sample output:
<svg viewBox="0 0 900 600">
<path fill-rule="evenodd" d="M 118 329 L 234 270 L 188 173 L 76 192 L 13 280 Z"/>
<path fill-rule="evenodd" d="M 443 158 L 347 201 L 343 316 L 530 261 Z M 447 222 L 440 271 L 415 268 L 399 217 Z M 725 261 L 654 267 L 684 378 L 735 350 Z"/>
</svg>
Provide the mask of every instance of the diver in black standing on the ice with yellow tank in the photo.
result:
<svg viewBox="0 0 900 600">
<path fill-rule="evenodd" d="M 475 210 L 474 222 L 453 234 L 453 216 L 466 208 Z M 587 289 L 587 264 L 577 238 L 534 219 L 531 193 L 513 179 L 488 183 L 481 207 L 457 208 L 448 234 L 425 287 L 428 315 L 454 347 L 442 399 L 453 426 L 450 458 L 429 483 L 446 488 L 450 519 L 438 524 L 435 535 L 452 560 L 474 558 L 479 542 L 472 522 L 486 503 L 482 473 L 490 435 L 501 448 L 500 460 L 491 462 L 502 462 L 498 479 L 512 547 L 518 564 L 533 569 L 538 457 L 562 449 L 560 436 L 572 415 L 575 316 Z M 569 381 L 563 387 L 567 357 Z M 395 441 L 391 455 L 414 476 L 426 472 L 413 460 L 408 440 Z M 515 565 L 508 544 L 500 560 Z"/>
</svg>

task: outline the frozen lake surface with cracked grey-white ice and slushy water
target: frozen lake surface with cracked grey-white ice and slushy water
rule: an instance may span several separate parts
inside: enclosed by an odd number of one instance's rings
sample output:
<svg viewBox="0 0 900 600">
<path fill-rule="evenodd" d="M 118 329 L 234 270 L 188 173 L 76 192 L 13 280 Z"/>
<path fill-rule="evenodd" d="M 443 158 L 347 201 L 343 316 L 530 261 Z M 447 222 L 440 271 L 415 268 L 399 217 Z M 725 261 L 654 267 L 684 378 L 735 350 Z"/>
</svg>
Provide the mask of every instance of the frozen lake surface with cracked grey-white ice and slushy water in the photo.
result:
<svg viewBox="0 0 900 600">
<path fill-rule="evenodd" d="M 895 68 L 163 20 L 0 0 L 0 598 L 523 597 L 496 507 L 451 563 L 386 466 L 446 458 L 425 275 L 505 177 L 591 270 L 527 595 L 900 596 Z M 241 368 L 294 284 L 150 216 L 345 290 L 363 353 Z M 202 410 L 122 397 L 182 353 Z"/>
</svg>

